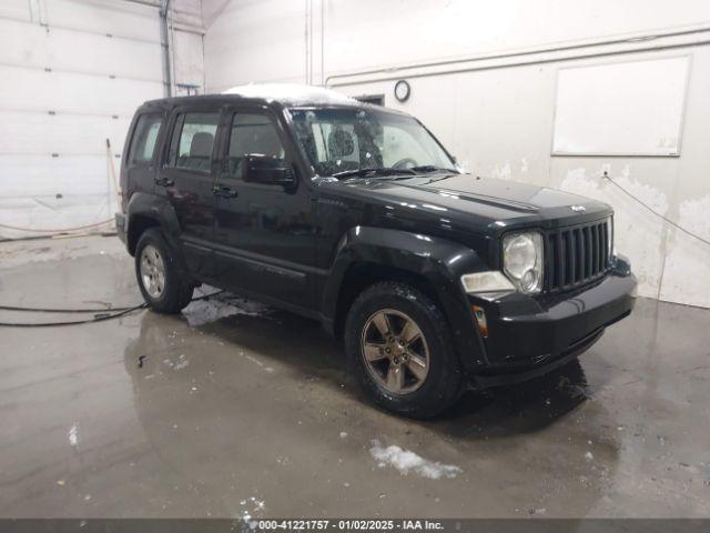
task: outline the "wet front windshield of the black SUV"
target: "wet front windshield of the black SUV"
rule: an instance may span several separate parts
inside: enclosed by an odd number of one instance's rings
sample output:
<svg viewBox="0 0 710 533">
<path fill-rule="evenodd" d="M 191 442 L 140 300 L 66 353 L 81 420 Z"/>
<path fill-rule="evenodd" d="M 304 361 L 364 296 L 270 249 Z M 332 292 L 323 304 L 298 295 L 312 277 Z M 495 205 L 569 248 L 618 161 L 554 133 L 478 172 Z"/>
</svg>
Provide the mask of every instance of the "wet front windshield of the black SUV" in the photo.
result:
<svg viewBox="0 0 710 533">
<path fill-rule="evenodd" d="M 410 117 L 356 108 L 292 109 L 291 114 L 318 175 L 345 177 L 366 169 L 457 172 L 439 143 Z"/>
</svg>

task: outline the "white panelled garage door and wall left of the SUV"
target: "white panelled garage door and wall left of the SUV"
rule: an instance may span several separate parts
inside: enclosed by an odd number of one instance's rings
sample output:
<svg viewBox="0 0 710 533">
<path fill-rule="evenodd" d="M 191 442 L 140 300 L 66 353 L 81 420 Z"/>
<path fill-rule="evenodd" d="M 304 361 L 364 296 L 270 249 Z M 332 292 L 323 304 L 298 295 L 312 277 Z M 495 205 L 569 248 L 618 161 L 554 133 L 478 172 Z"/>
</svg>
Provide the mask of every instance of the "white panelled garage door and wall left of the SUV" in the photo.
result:
<svg viewBox="0 0 710 533">
<path fill-rule="evenodd" d="M 173 3 L 174 91 L 202 90 L 201 4 Z M 155 7 L 0 2 L 0 238 L 93 228 L 112 218 L 112 169 L 118 173 L 135 108 L 163 95 L 162 61 Z"/>
</svg>

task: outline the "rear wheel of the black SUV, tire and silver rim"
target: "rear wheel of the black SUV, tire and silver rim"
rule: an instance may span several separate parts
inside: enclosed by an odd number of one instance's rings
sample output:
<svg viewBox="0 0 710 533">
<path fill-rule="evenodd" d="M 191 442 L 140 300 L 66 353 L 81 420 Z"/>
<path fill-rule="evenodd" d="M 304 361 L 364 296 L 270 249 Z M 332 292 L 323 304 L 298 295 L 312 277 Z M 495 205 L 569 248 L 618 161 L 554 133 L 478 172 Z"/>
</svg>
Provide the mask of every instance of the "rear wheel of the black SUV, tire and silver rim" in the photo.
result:
<svg viewBox="0 0 710 533">
<path fill-rule="evenodd" d="M 153 311 L 175 314 L 192 300 L 193 284 L 175 264 L 175 255 L 158 228 L 143 232 L 135 247 L 135 276 Z"/>
</svg>

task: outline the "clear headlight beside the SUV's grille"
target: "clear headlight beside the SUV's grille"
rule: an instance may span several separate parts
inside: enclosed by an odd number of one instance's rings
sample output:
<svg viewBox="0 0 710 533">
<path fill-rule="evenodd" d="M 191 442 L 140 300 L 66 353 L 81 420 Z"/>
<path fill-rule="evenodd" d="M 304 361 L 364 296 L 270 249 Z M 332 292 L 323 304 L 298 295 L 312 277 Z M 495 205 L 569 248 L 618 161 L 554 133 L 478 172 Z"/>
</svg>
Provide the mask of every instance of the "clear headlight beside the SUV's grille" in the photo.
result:
<svg viewBox="0 0 710 533">
<path fill-rule="evenodd" d="M 538 232 L 514 233 L 503 239 L 503 271 L 526 294 L 542 289 L 542 235 Z"/>
</svg>

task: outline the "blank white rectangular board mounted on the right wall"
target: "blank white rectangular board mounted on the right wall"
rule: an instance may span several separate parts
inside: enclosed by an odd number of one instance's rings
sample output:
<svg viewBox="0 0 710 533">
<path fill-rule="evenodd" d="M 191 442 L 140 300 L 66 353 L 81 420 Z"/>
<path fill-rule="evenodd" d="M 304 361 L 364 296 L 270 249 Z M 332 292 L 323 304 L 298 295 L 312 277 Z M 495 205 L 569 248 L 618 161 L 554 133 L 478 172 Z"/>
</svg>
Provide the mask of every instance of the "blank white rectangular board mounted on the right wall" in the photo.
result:
<svg viewBox="0 0 710 533">
<path fill-rule="evenodd" d="M 689 57 L 560 69 L 554 155 L 680 155 Z"/>
</svg>

